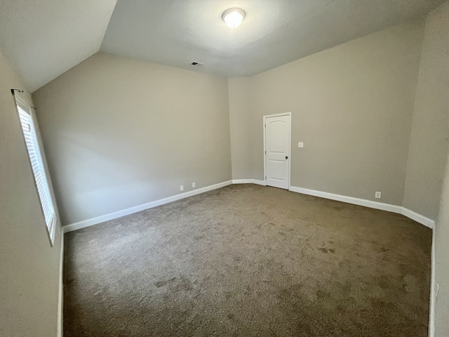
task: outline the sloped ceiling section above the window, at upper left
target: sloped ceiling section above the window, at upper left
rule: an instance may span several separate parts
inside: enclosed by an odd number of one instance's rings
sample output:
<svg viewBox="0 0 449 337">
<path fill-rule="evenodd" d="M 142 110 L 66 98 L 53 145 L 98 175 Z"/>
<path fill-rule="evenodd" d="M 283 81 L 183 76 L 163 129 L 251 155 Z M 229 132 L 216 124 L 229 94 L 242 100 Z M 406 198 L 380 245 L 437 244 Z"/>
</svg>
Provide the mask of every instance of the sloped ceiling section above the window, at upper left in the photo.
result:
<svg viewBox="0 0 449 337">
<path fill-rule="evenodd" d="M 0 51 L 34 91 L 100 50 L 116 0 L 0 0 Z"/>
</svg>

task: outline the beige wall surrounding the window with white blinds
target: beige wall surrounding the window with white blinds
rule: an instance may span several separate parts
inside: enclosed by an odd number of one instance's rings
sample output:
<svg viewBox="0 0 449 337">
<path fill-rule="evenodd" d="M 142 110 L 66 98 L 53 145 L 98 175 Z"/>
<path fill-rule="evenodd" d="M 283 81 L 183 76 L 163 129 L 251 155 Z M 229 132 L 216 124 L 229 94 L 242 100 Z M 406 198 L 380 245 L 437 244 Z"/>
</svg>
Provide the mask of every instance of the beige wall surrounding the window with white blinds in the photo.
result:
<svg viewBox="0 0 449 337">
<path fill-rule="evenodd" d="M 0 74 L 0 336 L 57 336 L 60 223 L 51 248 L 11 88 L 31 95 L 1 53 Z"/>
</svg>

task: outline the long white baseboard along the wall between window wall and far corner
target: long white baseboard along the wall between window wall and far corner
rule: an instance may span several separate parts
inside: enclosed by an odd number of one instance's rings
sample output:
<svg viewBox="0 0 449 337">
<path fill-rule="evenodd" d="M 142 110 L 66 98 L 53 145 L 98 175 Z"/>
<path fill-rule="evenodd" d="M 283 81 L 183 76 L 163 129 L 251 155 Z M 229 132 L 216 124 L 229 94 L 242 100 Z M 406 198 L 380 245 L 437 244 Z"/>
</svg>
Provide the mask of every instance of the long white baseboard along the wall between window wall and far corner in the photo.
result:
<svg viewBox="0 0 449 337">
<path fill-rule="evenodd" d="M 198 190 L 192 190 L 189 192 L 176 194 L 176 195 L 173 195 L 173 197 L 168 197 L 168 198 L 159 199 L 156 201 L 151 201 L 151 202 L 148 202 L 147 204 L 130 207 L 129 209 L 123 209 L 121 211 L 116 211 L 113 213 L 105 214 L 104 216 L 98 216 L 96 218 L 82 220 L 82 221 L 79 221 L 78 223 L 72 223 L 70 225 L 65 225 L 62 228 L 65 233 L 72 232 L 74 230 L 81 230 L 81 228 L 84 228 L 84 227 L 97 225 L 98 223 L 104 223 L 105 221 L 113 220 L 116 218 L 121 218 L 122 216 L 128 216 L 129 214 L 144 211 L 145 209 L 152 209 L 153 207 L 156 207 L 156 206 L 161 206 L 163 204 L 168 204 L 169 202 L 177 201 L 177 200 L 184 199 L 187 197 L 192 197 L 196 194 L 201 194 L 201 193 L 208 192 L 211 190 L 216 190 L 217 188 L 225 187 L 227 185 L 232 185 L 232 180 L 228 180 L 223 183 L 218 183 L 215 185 L 202 187 L 202 188 L 199 188 Z"/>
</svg>

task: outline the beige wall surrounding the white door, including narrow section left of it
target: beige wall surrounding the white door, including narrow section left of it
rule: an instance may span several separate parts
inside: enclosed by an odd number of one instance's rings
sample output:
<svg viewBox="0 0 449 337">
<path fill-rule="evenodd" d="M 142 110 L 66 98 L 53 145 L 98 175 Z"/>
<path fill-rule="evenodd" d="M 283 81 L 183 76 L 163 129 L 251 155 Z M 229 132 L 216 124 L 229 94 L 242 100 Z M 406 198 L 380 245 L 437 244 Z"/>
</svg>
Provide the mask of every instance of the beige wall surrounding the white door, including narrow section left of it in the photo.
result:
<svg viewBox="0 0 449 337">
<path fill-rule="evenodd" d="M 291 185 L 402 205 L 422 35 L 397 25 L 229 79 L 233 179 L 263 180 L 262 116 L 292 112 Z"/>
</svg>

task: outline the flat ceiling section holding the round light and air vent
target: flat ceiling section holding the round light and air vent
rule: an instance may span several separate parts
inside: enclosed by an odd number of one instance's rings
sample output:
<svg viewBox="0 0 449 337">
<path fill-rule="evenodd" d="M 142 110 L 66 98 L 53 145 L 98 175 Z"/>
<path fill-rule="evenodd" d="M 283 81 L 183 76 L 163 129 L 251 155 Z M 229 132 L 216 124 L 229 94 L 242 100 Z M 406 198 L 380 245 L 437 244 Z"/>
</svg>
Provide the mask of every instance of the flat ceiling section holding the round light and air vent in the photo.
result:
<svg viewBox="0 0 449 337">
<path fill-rule="evenodd" d="M 223 77 L 257 74 L 419 18 L 444 0 L 118 0 L 101 50 Z M 241 26 L 221 20 L 246 11 Z M 203 62 L 203 68 L 190 65 Z"/>
</svg>

